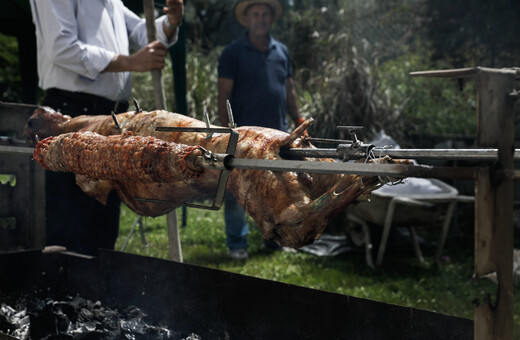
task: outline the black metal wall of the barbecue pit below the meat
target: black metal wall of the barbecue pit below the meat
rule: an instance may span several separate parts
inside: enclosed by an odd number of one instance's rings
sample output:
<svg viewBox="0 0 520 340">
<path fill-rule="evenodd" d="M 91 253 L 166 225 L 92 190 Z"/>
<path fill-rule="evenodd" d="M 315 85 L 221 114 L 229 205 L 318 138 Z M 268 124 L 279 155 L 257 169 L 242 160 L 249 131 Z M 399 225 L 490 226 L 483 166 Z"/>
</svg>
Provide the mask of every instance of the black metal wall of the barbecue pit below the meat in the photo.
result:
<svg viewBox="0 0 520 340">
<path fill-rule="evenodd" d="M 154 324 L 202 339 L 472 337 L 467 319 L 116 251 L 3 253 L 0 277 L 0 296 L 133 305 Z"/>
</svg>

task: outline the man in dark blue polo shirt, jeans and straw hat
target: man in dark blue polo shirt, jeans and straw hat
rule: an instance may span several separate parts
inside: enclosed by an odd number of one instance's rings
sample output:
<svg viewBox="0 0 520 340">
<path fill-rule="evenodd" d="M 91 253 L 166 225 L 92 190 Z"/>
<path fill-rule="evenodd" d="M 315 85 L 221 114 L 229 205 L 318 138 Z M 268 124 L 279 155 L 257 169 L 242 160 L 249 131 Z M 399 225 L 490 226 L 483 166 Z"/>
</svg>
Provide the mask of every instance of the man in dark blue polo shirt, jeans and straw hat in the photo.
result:
<svg viewBox="0 0 520 340">
<path fill-rule="evenodd" d="M 241 0 L 235 17 L 248 29 L 222 52 L 218 66 L 220 123 L 229 123 L 226 100 L 239 126 L 263 126 L 287 131 L 287 114 L 300 125 L 292 66 L 287 47 L 270 35 L 283 8 L 278 0 Z M 238 202 L 227 195 L 224 206 L 227 245 L 233 259 L 247 258 L 248 227 Z"/>
</svg>

